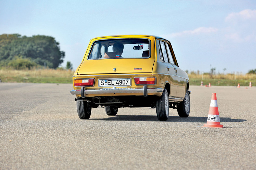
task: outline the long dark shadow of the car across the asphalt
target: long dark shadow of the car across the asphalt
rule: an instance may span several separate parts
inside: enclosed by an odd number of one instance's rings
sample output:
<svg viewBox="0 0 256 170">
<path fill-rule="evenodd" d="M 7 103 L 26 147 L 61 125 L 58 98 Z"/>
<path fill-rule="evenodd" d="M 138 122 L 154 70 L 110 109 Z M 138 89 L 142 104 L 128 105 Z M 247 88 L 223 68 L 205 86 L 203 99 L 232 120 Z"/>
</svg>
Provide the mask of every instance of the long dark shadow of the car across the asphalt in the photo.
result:
<svg viewBox="0 0 256 170">
<path fill-rule="evenodd" d="M 153 115 L 117 115 L 111 116 L 109 118 L 103 119 L 90 119 L 90 120 L 108 120 L 108 121 L 159 121 L 157 116 Z M 207 117 L 187 117 L 187 118 L 180 118 L 179 116 L 169 116 L 167 120 L 169 122 L 199 122 L 199 123 L 206 123 Z M 243 122 L 246 119 L 232 119 L 232 118 L 220 118 L 221 122 Z"/>
</svg>

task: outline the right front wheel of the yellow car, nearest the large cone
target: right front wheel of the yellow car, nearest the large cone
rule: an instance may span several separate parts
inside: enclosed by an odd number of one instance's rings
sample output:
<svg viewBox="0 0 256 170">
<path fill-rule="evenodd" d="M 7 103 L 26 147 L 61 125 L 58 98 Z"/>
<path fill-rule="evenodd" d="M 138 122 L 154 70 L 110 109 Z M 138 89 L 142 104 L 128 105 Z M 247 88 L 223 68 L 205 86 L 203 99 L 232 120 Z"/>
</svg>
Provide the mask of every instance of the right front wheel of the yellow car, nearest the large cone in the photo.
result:
<svg viewBox="0 0 256 170">
<path fill-rule="evenodd" d="M 189 91 L 186 90 L 184 100 L 177 105 L 177 111 L 181 118 L 187 118 L 190 113 L 190 96 Z"/>
</svg>

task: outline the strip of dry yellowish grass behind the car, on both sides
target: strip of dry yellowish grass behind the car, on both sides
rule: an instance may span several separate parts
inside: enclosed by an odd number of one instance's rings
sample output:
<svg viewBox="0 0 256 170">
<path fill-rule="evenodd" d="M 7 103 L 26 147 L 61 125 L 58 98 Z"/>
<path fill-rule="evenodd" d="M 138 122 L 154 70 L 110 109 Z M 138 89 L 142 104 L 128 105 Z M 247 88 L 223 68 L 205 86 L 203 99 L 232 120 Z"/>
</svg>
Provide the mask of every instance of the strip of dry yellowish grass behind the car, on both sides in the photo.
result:
<svg viewBox="0 0 256 170">
<path fill-rule="evenodd" d="M 33 70 L 11 70 L 1 69 L 0 79 L 2 82 L 18 82 L 18 83 L 72 83 L 71 70 L 54 70 L 54 69 L 33 69 Z M 249 86 L 251 82 L 256 85 L 256 74 L 218 74 L 212 77 L 209 74 L 189 74 L 190 85 L 229 85 Z"/>
</svg>

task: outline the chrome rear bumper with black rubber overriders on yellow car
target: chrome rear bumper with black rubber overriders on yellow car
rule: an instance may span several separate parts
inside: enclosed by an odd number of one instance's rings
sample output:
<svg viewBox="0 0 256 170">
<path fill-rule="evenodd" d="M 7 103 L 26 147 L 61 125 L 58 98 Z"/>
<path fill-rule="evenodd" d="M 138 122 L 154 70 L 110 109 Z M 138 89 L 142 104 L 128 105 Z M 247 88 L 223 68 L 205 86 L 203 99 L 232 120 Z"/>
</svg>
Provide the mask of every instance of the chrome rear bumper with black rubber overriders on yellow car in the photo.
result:
<svg viewBox="0 0 256 170">
<path fill-rule="evenodd" d="M 81 91 L 82 90 L 82 91 Z M 122 94 L 122 93 L 141 93 L 144 96 L 147 96 L 147 93 L 161 93 L 163 92 L 162 88 L 141 88 L 141 89 L 118 89 L 118 88 L 109 88 L 109 89 L 90 89 L 86 90 L 84 89 L 84 95 L 83 95 L 83 88 L 81 90 L 71 90 L 70 93 L 72 95 L 81 95 L 81 96 L 86 96 L 88 94 Z"/>
</svg>

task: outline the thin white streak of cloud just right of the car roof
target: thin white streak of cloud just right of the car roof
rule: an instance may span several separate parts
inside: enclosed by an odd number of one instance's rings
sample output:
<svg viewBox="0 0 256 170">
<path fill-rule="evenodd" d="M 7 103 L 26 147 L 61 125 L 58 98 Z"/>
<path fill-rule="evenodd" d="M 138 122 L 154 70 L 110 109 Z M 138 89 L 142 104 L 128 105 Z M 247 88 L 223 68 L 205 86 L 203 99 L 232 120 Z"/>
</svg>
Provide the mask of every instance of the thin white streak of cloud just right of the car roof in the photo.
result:
<svg viewBox="0 0 256 170">
<path fill-rule="evenodd" d="M 170 34 L 170 37 L 180 37 L 180 36 L 186 36 L 186 35 L 199 35 L 199 34 L 206 34 L 206 33 L 211 33 L 211 32 L 216 32 L 216 31 L 218 31 L 217 28 L 199 27 L 194 30 L 187 30 L 187 31 L 172 33 L 172 34 Z"/>
</svg>

